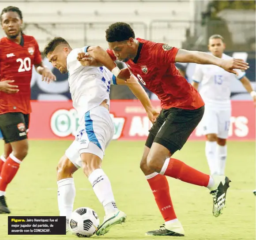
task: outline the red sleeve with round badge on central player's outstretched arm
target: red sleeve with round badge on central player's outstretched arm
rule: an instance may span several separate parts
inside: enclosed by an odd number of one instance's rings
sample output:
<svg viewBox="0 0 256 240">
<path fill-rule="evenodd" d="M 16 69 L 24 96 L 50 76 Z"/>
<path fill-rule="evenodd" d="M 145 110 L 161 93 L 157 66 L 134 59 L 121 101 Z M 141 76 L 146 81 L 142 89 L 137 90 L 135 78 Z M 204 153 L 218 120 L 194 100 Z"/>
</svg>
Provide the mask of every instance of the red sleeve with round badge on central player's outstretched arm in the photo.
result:
<svg viewBox="0 0 256 240">
<path fill-rule="evenodd" d="M 152 54 L 157 64 L 162 66 L 174 63 L 178 50 L 179 49 L 171 47 L 168 44 L 156 43 L 151 49 L 153 53 L 149 54 Z"/>
</svg>

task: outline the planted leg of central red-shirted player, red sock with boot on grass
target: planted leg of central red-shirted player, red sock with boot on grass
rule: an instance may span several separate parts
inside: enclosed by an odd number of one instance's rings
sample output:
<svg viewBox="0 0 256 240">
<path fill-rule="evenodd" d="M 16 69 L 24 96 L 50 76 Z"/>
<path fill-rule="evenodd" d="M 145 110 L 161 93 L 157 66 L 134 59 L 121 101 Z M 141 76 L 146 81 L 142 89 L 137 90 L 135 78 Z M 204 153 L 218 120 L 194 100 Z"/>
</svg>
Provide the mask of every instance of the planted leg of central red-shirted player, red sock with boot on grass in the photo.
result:
<svg viewBox="0 0 256 240">
<path fill-rule="evenodd" d="M 166 176 L 154 172 L 147 166 L 147 156 L 149 151 L 150 148 L 145 146 L 143 157 L 140 162 L 140 169 L 146 176 L 165 224 L 158 230 L 147 232 L 146 235 L 184 236 L 184 229 L 174 212 L 173 203 L 169 192 L 169 184 Z"/>
</svg>

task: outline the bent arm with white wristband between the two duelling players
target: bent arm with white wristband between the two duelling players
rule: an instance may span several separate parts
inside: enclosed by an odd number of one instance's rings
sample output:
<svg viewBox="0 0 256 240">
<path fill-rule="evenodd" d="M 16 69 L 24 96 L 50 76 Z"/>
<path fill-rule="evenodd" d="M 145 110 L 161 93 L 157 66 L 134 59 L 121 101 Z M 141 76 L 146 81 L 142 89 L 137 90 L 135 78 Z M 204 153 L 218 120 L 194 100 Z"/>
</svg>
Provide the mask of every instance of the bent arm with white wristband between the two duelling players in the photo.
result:
<svg viewBox="0 0 256 240">
<path fill-rule="evenodd" d="M 100 46 L 86 46 L 83 48 L 82 53 L 78 53 L 77 60 L 87 61 L 91 67 L 105 66 L 119 79 L 127 80 L 130 78 L 131 73 L 128 68 L 120 70 L 114 62 L 116 57 L 106 52 Z M 82 65 L 85 63 L 81 63 Z M 84 65 L 83 65 L 84 66 Z"/>
</svg>

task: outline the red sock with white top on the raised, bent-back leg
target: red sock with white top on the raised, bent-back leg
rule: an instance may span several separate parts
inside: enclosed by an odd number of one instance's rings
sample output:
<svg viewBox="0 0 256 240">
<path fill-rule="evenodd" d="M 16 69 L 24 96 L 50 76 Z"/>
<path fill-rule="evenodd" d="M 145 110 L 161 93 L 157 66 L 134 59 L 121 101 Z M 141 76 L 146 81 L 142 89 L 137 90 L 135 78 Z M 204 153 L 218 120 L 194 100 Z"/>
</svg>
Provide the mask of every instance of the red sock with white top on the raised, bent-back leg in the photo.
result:
<svg viewBox="0 0 256 240">
<path fill-rule="evenodd" d="M 201 173 L 175 158 L 166 159 L 160 174 L 203 187 L 207 187 L 210 179 L 209 175 Z"/>
</svg>

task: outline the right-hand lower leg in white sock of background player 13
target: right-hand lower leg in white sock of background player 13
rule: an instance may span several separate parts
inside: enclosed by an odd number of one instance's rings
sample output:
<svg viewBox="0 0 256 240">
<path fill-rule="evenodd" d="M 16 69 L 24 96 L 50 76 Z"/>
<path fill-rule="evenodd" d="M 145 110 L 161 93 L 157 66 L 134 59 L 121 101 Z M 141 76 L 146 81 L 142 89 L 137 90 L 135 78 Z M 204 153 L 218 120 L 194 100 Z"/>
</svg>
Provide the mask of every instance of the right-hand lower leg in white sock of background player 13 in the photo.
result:
<svg viewBox="0 0 256 240">
<path fill-rule="evenodd" d="M 217 161 L 218 161 L 218 175 L 225 175 L 227 158 L 226 139 L 217 139 Z"/>
</svg>

